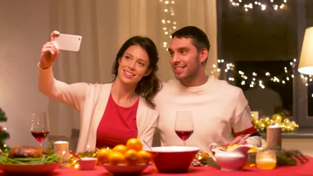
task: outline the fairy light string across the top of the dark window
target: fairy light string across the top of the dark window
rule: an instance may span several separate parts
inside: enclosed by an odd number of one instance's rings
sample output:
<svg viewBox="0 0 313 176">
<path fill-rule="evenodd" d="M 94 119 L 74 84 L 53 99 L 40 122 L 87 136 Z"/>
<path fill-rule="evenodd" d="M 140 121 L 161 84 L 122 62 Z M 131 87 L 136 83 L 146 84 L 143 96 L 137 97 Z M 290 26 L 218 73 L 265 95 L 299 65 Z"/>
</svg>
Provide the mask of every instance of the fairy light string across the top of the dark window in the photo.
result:
<svg viewBox="0 0 313 176">
<path fill-rule="evenodd" d="M 281 1 L 281 3 L 275 3 L 274 0 L 270 0 L 270 1 L 245 1 L 245 3 L 243 3 L 242 1 L 245 0 L 230 0 L 230 3 L 235 6 L 242 6 L 244 7 L 245 11 L 249 11 L 253 8 L 259 7 L 261 10 L 266 10 L 267 7 L 272 7 L 275 11 L 280 10 L 280 9 L 284 9 L 285 4 L 287 3 L 287 0 L 283 0 Z M 249 3 L 247 3 L 249 2 Z"/>
</svg>

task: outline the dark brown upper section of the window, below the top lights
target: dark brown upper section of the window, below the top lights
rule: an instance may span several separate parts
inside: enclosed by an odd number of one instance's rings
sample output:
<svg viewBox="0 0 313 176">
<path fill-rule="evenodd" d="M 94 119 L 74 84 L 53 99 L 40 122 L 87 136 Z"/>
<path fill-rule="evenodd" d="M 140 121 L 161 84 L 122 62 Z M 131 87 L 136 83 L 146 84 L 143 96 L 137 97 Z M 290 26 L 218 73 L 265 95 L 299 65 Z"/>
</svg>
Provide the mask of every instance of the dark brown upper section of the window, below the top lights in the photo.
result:
<svg viewBox="0 0 313 176">
<path fill-rule="evenodd" d="M 283 10 L 267 7 L 262 11 L 254 6 L 247 12 L 243 7 L 234 7 L 229 0 L 217 1 L 221 3 L 218 10 L 222 10 L 219 58 L 227 61 L 297 58 L 295 1 L 289 0 Z M 308 13 L 313 16 L 313 12 Z"/>
</svg>

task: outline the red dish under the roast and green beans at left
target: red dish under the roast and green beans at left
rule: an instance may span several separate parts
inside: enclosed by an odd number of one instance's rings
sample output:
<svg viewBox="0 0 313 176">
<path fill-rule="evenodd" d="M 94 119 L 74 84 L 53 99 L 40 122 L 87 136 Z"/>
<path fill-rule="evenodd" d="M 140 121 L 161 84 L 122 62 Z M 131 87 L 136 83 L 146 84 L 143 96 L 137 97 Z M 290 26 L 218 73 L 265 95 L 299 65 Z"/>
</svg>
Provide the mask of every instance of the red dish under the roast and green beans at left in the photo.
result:
<svg viewBox="0 0 313 176">
<path fill-rule="evenodd" d="M 61 163 L 53 164 L 0 164 L 6 173 L 44 174 L 55 170 Z"/>
</svg>

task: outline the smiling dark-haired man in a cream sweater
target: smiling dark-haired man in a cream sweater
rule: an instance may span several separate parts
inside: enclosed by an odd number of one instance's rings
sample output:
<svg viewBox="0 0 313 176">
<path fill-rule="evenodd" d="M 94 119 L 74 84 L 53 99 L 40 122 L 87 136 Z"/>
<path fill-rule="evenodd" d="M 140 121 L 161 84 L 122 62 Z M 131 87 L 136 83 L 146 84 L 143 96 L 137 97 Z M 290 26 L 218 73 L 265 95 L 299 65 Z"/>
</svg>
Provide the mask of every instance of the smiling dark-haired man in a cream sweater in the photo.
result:
<svg viewBox="0 0 313 176">
<path fill-rule="evenodd" d="M 211 143 L 261 145 L 253 126 L 248 101 L 242 90 L 205 74 L 210 43 L 197 27 L 187 26 L 172 34 L 168 48 L 176 79 L 164 83 L 156 95 L 161 145 L 182 145 L 175 133 L 177 111 L 190 111 L 194 132 L 186 146 L 208 151 Z"/>
</svg>

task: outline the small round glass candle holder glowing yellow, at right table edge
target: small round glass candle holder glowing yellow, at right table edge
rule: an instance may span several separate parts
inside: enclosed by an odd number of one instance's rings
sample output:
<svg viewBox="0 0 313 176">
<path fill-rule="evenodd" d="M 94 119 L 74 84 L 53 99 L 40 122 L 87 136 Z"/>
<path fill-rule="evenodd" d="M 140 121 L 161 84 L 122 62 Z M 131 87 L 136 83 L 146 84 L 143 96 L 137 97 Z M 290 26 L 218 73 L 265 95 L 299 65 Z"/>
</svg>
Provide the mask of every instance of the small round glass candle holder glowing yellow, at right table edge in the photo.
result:
<svg viewBox="0 0 313 176">
<path fill-rule="evenodd" d="M 274 169 L 276 166 L 276 154 L 274 150 L 265 149 L 256 152 L 256 167 L 259 169 Z"/>
</svg>

